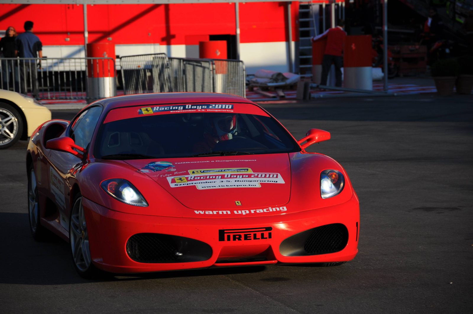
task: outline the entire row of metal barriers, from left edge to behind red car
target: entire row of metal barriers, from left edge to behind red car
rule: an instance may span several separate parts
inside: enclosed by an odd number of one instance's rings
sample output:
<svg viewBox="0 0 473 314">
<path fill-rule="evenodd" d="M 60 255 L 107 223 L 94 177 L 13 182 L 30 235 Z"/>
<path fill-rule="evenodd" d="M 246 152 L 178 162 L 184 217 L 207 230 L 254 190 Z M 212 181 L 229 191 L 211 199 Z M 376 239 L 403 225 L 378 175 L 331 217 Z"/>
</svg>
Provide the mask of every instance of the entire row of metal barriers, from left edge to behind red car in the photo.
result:
<svg viewBox="0 0 473 314">
<path fill-rule="evenodd" d="M 1 89 L 38 99 L 116 96 L 112 58 L 0 58 Z M 165 53 L 123 56 L 125 94 L 215 92 L 245 97 L 245 65 L 238 60 L 168 58 Z"/>
</svg>

